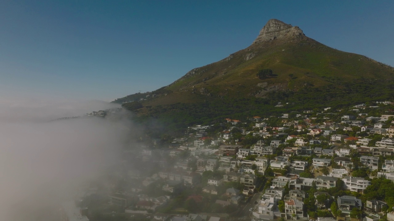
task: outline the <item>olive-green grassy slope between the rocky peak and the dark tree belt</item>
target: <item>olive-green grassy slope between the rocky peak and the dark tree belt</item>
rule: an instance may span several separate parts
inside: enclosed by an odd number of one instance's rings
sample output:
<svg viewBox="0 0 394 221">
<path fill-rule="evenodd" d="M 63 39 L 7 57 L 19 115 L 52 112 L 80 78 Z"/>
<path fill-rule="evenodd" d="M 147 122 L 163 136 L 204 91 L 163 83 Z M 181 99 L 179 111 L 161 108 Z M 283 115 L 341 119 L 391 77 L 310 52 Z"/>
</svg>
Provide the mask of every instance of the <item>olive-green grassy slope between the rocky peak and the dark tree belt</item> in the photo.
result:
<svg viewBox="0 0 394 221">
<path fill-rule="evenodd" d="M 256 56 L 245 61 L 245 55 L 251 52 Z M 272 69 L 277 76 L 258 79 L 256 72 L 262 68 Z M 392 80 L 393 73 L 392 68 L 367 57 L 335 50 L 307 37 L 297 42 L 273 41 L 236 52 L 229 61 L 224 59 L 199 68 L 196 75 L 182 77 L 169 85 L 167 89 L 173 93 L 147 101 L 146 105 L 198 102 L 217 96 L 253 96 L 261 90 L 256 85 L 262 82 L 282 84 L 290 90 L 305 84 L 318 88 L 334 84 L 340 88 L 340 83 L 358 79 Z M 203 94 L 210 93 L 210 98 L 201 96 L 200 88 L 206 88 Z"/>
</svg>

